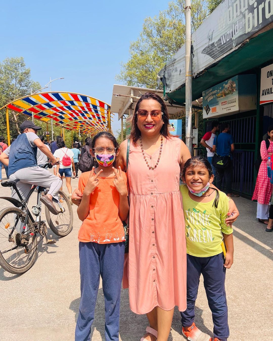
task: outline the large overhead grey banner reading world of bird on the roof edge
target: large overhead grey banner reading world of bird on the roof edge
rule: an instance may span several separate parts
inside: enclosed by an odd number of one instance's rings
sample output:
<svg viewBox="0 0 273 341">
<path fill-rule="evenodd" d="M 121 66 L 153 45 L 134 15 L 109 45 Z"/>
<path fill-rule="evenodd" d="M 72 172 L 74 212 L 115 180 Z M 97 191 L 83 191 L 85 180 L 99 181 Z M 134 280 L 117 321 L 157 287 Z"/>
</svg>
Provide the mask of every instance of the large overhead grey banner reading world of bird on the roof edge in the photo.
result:
<svg viewBox="0 0 273 341">
<path fill-rule="evenodd" d="M 192 33 L 192 76 L 230 54 L 271 24 L 272 0 L 224 0 Z M 158 74 L 166 92 L 185 84 L 185 44 Z"/>
</svg>

